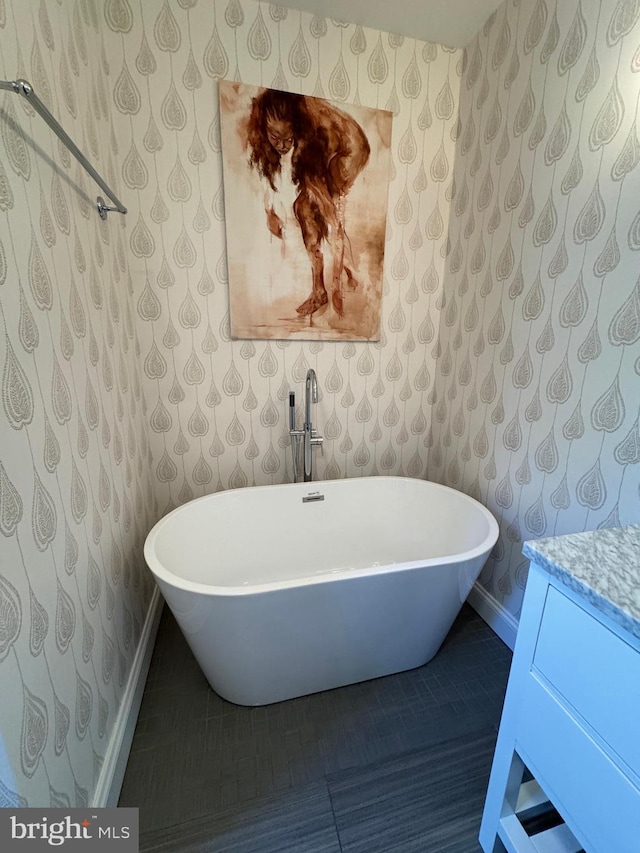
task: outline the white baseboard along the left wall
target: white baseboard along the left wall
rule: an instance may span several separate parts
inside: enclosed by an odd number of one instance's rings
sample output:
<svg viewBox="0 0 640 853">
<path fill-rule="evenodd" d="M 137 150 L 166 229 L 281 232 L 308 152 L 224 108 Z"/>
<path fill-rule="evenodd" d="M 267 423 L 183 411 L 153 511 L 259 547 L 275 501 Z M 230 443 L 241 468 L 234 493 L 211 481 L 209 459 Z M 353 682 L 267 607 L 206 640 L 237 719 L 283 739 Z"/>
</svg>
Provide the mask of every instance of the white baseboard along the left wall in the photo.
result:
<svg viewBox="0 0 640 853">
<path fill-rule="evenodd" d="M 118 805 L 163 604 L 164 599 L 156 587 L 93 795 L 92 805 L 96 808 L 114 808 Z"/>
</svg>

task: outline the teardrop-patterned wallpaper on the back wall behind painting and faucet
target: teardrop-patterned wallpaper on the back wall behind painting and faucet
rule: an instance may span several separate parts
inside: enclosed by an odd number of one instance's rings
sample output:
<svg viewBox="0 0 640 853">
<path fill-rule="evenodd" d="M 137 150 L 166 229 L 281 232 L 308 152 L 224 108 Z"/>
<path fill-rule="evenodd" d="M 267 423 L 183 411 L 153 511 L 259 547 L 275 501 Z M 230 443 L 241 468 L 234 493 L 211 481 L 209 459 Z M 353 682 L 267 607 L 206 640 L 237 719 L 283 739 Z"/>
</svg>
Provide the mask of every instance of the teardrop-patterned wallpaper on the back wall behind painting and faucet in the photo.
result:
<svg viewBox="0 0 640 853">
<path fill-rule="evenodd" d="M 308 367 L 317 478 L 424 476 L 462 52 L 253 0 L 107 0 L 105 20 L 161 508 L 290 481 Z M 230 339 L 221 78 L 394 113 L 378 343 Z"/>
</svg>

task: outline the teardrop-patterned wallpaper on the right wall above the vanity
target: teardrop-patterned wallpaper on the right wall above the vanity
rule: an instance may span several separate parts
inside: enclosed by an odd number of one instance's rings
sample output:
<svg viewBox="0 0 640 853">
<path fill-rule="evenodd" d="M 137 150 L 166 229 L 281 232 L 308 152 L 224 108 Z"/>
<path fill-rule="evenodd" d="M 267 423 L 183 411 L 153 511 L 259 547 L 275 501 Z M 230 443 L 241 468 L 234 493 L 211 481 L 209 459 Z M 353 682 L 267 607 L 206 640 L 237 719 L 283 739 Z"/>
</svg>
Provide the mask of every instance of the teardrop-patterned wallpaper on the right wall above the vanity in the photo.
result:
<svg viewBox="0 0 640 853">
<path fill-rule="evenodd" d="M 640 2 L 507 0 L 465 51 L 429 479 L 522 540 L 640 519 Z"/>
</svg>

